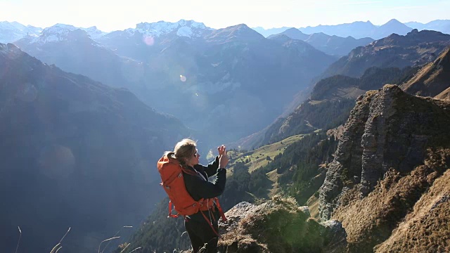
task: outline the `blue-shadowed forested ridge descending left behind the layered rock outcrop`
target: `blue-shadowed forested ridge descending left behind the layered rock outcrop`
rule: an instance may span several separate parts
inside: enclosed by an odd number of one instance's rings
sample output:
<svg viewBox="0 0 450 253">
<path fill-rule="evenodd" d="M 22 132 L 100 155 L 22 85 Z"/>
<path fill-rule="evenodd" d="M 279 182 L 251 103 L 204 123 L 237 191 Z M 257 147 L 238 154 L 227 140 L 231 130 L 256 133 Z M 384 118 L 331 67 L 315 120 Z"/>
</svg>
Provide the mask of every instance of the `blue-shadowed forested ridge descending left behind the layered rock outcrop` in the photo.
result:
<svg viewBox="0 0 450 253">
<path fill-rule="evenodd" d="M 401 84 L 418 71 L 418 68 L 371 67 L 360 78 L 335 75 L 321 79 L 314 86 L 308 100 L 288 117 L 280 117 L 264 129 L 264 134 L 249 136 L 238 141 L 241 148 L 252 148 L 274 143 L 288 136 L 307 134 L 316 129 L 333 129 L 344 124 L 354 107 L 356 98 L 384 84 Z M 321 117 L 317 117 L 321 115 Z M 235 144 L 236 145 L 236 144 Z"/>
</svg>

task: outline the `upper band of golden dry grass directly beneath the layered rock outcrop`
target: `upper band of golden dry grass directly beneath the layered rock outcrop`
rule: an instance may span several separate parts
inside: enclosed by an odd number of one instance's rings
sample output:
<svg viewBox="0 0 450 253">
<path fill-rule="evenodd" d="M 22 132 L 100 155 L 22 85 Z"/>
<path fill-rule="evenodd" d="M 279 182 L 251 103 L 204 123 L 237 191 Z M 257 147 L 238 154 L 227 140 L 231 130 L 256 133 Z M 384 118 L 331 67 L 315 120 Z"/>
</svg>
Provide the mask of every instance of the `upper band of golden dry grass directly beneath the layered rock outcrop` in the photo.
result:
<svg viewBox="0 0 450 253">
<path fill-rule="evenodd" d="M 375 245 L 387 240 L 449 164 L 450 150 L 429 150 L 425 165 L 405 176 L 388 171 L 367 197 L 359 199 L 357 188 L 349 190 L 333 215 L 347 232 L 349 252 L 372 252 Z"/>
</svg>

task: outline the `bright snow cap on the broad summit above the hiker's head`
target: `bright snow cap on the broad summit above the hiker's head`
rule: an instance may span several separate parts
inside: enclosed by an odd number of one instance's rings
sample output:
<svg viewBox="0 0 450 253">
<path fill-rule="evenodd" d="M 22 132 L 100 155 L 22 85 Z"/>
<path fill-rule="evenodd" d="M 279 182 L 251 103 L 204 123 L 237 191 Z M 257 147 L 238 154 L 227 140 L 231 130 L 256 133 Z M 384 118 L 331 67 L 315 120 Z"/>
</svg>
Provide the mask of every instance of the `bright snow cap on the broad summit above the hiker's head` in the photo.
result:
<svg viewBox="0 0 450 253">
<path fill-rule="evenodd" d="M 179 20 L 178 22 L 141 22 L 136 25 L 136 29 L 128 29 L 126 32 L 134 34 L 140 32 L 150 37 L 160 37 L 163 34 L 169 34 L 176 31 L 176 35 L 181 37 L 200 37 L 202 30 L 212 30 L 206 27 L 203 22 L 195 22 L 193 20 Z"/>
</svg>

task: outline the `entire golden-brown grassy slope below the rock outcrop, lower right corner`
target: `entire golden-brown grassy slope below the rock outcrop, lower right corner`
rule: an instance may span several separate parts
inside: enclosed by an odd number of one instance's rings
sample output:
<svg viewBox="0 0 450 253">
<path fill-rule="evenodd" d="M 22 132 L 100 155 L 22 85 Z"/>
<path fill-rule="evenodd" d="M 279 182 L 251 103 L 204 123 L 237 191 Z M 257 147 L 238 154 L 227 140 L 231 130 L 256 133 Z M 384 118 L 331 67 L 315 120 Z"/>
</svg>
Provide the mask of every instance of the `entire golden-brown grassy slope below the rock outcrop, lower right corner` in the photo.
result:
<svg viewBox="0 0 450 253">
<path fill-rule="evenodd" d="M 444 212 L 439 216 L 439 212 L 431 209 L 440 199 L 445 201 L 439 208 L 445 209 L 448 203 L 444 197 L 449 194 L 448 176 L 442 174 L 448 170 L 450 150 L 429 152 L 424 165 L 406 176 L 394 170 L 387 172 L 375 190 L 363 199 L 359 198 L 358 190 L 345 193 L 333 218 L 342 221 L 349 252 L 373 252 L 373 247 L 379 244 L 377 252 L 392 252 L 393 248 L 398 249 L 394 252 L 408 252 L 412 247 L 418 249 L 413 252 L 423 252 L 427 247 L 433 249 L 431 252 L 449 249 L 444 238 L 448 238 L 450 228 L 441 226 L 448 216 Z M 435 214 L 439 218 L 432 217 Z M 393 232 L 394 228 L 397 230 Z"/>
</svg>

